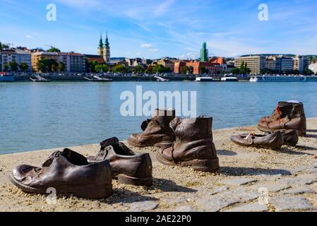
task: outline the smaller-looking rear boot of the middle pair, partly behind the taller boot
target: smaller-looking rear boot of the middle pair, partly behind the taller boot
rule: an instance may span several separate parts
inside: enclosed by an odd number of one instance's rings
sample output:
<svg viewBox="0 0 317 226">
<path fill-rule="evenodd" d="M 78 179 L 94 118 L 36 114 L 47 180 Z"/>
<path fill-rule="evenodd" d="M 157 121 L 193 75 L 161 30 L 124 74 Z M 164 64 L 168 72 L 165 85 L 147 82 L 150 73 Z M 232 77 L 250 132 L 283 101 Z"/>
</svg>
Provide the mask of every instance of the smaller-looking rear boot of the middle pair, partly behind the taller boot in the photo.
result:
<svg viewBox="0 0 317 226">
<path fill-rule="evenodd" d="M 175 118 L 174 109 L 156 109 L 152 119 L 143 121 L 143 133 L 134 133 L 128 138 L 128 144 L 138 148 L 169 145 L 175 140 L 174 131 L 169 122 Z"/>
</svg>

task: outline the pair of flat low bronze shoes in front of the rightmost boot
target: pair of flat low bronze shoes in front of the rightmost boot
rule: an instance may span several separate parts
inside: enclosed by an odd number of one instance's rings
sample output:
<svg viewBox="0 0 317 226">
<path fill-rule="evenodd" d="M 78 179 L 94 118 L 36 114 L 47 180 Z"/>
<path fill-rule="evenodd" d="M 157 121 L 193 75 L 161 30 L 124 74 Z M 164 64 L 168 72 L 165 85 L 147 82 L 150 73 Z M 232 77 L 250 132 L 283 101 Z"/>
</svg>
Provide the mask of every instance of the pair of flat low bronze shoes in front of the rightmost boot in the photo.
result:
<svg viewBox="0 0 317 226">
<path fill-rule="evenodd" d="M 273 133 L 256 134 L 244 133 L 232 136 L 230 140 L 238 145 L 256 148 L 280 150 L 282 145 L 295 146 L 299 141 L 297 131 L 275 131 Z"/>
</svg>

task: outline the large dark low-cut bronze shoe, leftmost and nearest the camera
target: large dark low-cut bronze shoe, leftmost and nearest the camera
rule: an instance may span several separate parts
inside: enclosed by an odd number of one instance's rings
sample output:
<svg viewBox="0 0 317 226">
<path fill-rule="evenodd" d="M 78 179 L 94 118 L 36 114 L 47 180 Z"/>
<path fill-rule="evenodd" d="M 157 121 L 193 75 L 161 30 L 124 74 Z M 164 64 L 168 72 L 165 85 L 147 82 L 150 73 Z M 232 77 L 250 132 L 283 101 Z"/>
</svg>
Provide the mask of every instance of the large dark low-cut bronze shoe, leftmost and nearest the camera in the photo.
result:
<svg viewBox="0 0 317 226">
<path fill-rule="evenodd" d="M 42 167 L 19 165 L 9 174 L 11 182 L 22 191 L 47 194 L 73 194 L 80 198 L 107 198 L 112 195 L 112 169 L 109 160 L 90 163 L 69 149 L 56 151 Z"/>
</svg>

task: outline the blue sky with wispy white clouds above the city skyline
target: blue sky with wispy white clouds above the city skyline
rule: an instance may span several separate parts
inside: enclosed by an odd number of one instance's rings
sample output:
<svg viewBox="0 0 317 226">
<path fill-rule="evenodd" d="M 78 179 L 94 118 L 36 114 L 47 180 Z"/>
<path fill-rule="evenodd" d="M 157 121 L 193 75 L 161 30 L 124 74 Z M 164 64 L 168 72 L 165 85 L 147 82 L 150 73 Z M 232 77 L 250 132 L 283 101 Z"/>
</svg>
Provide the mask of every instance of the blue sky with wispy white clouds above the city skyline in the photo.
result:
<svg viewBox="0 0 317 226">
<path fill-rule="evenodd" d="M 107 30 L 112 57 L 196 58 L 203 42 L 210 56 L 317 54 L 316 21 L 316 0 L 0 0 L 0 41 L 95 54 Z"/>
</svg>

